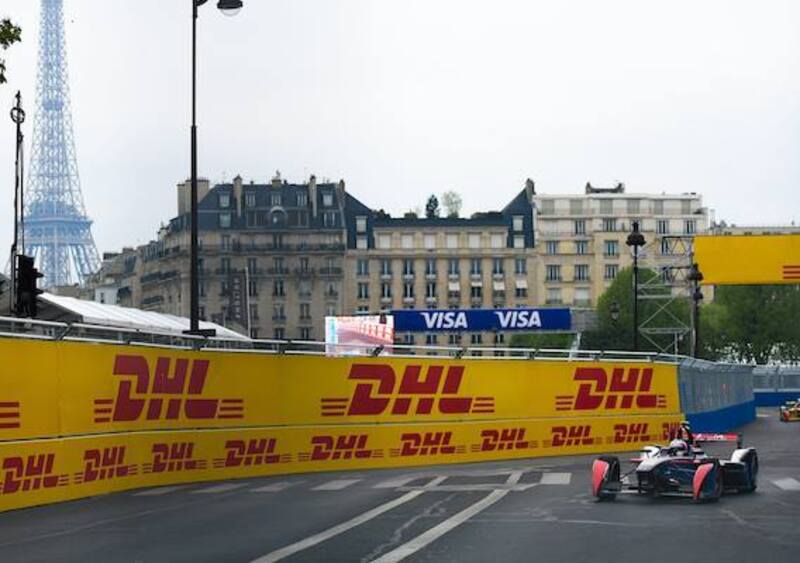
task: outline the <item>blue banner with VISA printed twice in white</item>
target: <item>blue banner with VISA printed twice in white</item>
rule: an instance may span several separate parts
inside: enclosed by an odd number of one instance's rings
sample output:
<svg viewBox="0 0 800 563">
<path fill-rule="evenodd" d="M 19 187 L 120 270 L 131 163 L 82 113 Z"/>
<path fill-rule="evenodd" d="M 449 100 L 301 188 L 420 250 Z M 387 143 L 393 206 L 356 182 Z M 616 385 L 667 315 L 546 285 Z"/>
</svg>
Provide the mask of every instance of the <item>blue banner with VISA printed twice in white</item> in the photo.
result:
<svg viewBox="0 0 800 563">
<path fill-rule="evenodd" d="M 400 309 L 392 311 L 398 332 L 478 332 L 570 330 L 572 315 L 563 309 Z"/>
</svg>

